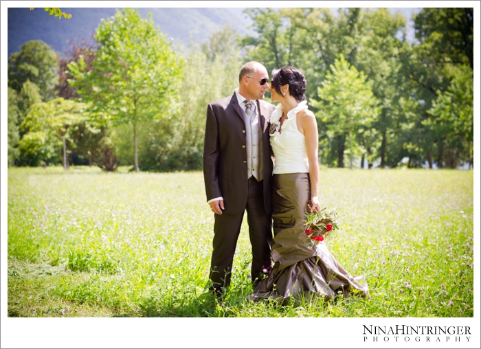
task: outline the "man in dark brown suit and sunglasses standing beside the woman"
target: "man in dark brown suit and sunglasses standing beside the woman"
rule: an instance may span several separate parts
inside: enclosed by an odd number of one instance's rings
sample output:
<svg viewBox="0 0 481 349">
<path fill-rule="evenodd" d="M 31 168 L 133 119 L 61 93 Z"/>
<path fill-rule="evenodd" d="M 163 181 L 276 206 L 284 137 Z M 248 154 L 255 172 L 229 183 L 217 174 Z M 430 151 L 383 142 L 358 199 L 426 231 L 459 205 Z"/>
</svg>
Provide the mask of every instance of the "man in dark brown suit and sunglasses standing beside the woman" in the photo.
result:
<svg viewBox="0 0 481 349">
<path fill-rule="evenodd" d="M 251 277 L 271 269 L 271 146 L 268 120 L 275 109 L 265 102 L 269 74 L 258 62 L 243 65 L 232 97 L 208 105 L 203 172 L 214 212 L 210 280 L 213 293 L 230 284 L 240 225 L 247 210 L 252 245 Z"/>
</svg>

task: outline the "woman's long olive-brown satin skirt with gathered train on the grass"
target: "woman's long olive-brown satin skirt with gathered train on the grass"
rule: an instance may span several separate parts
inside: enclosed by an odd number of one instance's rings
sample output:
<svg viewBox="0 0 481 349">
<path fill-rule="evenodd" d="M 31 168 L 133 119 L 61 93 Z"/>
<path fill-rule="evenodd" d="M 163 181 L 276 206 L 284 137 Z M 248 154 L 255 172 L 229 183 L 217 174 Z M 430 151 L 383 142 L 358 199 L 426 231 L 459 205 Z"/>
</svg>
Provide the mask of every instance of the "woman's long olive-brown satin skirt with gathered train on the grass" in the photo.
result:
<svg viewBox="0 0 481 349">
<path fill-rule="evenodd" d="M 324 241 L 315 245 L 304 234 L 305 212 L 311 199 L 309 173 L 273 175 L 272 218 L 273 268 L 259 282 L 251 299 L 320 295 L 331 298 L 338 292 L 368 295 L 361 275 L 351 276 L 335 260 Z"/>
</svg>

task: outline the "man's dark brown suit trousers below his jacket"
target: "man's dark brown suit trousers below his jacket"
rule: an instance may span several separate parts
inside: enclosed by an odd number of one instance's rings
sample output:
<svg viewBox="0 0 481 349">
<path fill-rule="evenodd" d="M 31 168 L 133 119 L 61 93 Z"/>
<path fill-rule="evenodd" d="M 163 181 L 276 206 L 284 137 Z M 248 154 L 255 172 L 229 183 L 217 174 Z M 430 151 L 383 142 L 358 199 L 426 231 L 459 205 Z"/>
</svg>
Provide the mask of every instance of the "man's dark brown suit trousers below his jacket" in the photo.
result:
<svg viewBox="0 0 481 349">
<path fill-rule="evenodd" d="M 247 224 L 252 245 L 251 276 L 255 280 L 262 269 L 271 270 L 272 221 L 271 214 L 265 213 L 262 181 L 254 177 L 248 181 L 247 193 Z M 210 264 L 211 290 L 230 284 L 232 261 L 236 251 L 237 239 L 240 233 L 244 212 L 238 214 L 214 214 L 214 241 L 212 261 Z"/>
</svg>

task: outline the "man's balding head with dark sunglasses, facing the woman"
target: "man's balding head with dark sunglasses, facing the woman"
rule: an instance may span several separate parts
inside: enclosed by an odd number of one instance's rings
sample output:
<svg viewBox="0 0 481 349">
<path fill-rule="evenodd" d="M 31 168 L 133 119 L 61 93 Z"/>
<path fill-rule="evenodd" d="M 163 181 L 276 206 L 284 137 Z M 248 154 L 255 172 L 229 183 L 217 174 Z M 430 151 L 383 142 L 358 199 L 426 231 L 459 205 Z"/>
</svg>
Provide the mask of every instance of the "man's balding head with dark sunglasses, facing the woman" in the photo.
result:
<svg viewBox="0 0 481 349">
<path fill-rule="evenodd" d="M 263 82 L 263 84 L 262 84 Z M 263 100 L 269 87 L 269 74 L 258 62 L 247 62 L 240 68 L 239 93 L 248 100 Z"/>
</svg>

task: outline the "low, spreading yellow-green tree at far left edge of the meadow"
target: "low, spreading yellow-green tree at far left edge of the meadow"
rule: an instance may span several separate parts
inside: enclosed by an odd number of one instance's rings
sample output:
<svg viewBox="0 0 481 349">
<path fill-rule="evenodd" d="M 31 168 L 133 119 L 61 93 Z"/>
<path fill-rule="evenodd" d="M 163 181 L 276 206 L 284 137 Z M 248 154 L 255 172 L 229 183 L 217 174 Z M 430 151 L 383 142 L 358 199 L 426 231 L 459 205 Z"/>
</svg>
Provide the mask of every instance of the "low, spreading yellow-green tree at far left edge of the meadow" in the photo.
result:
<svg viewBox="0 0 481 349">
<path fill-rule="evenodd" d="M 23 130 L 28 130 L 19 143 L 25 163 L 37 166 L 41 160 L 49 161 L 60 155 L 67 169 L 67 145 L 76 144 L 72 135 L 86 124 L 87 128 L 96 132 L 96 128 L 87 122 L 86 109 L 85 103 L 61 97 L 34 104 L 21 124 Z"/>
</svg>

